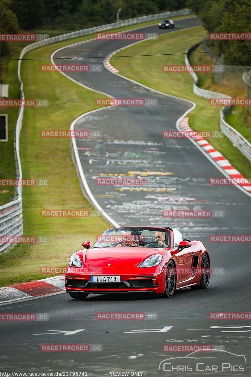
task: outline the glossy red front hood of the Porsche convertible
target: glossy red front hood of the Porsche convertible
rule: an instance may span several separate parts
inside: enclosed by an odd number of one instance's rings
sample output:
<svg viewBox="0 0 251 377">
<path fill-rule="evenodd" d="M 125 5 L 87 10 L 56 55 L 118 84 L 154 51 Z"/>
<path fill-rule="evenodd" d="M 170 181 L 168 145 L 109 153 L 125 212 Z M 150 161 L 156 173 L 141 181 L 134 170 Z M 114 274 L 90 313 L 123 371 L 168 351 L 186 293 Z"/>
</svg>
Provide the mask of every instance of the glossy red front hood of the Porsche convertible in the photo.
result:
<svg viewBox="0 0 251 377">
<path fill-rule="evenodd" d="M 163 254 L 157 248 L 143 247 L 97 247 L 86 250 L 83 254 L 85 265 L 88 267 L 131 267 L 145 261 L 151 255 Z"/>
</svg>

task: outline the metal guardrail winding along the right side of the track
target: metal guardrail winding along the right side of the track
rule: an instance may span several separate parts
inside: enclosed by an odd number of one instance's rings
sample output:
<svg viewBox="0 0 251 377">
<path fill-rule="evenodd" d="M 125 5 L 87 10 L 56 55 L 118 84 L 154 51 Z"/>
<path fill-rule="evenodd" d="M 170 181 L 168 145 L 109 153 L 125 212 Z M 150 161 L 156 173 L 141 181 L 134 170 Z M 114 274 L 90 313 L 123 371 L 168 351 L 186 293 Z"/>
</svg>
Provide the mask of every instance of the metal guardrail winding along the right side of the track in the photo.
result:
<svg viewBox="0 0 251 377">
<path fill-rule="evenodd" d="M 185 64 L 190 65 L 189 63 L 189 54 L 195 50 L 200 43 L 195 44 L 194 46 L 190 47 L 187 49 L 185 52 Z M 217 64 L 216 64 L 217 65 Z M 196 73 L 189 72 L 190 75 L 192 76 L 194 83 L 193 83 L 193 93 L 198 95 L 198 97 L 203 97 L 203 98 L 229 98 L 231 99 L 230 96 L 225 95 L 223 93 L 218 93 L 218 92 L 212 92 L 211 90 L 206 90 L 202 89 L 199 87 L 199 79 Z M 220 111 L 220 127 L 221 131 L 224 133 L 225 136 L 231 141 L 231 143 L 239 149 L 239 151 L 248 159 L 249 162 L 251 162 L 251 144 L 249 143 L 248 140 L 244 138 L 238 131 L 236 131 L 230 124 L 228 124 L 225 121 L 225 115 L 227 115 L 231 110 L 231 106 L 224 106 L 223 109 Z"/>
</svg>

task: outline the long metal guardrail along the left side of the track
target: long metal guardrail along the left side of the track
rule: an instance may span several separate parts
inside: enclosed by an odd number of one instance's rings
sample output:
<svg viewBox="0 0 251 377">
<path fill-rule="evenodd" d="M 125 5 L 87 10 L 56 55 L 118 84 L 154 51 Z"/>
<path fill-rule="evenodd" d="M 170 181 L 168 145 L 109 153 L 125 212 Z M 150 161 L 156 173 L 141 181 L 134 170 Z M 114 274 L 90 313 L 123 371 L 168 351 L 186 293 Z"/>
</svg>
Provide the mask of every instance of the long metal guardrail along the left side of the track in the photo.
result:
<svg viewBox="0 0 251 377">
<path fill-rule="evenodd" d="M 82 37 L 83 35 L 93 34 L 99 31 L 115 29 L 122 26 L 134 25 L 141 22 L 145 22 L 145 21 L 151 21 L 151 20 L 154 21 L 161 18 L 165 18 L 165 17 L 186 16 L 191 13 L 192 13 L 191 9 L 184 9 L 182 11 L 152 14 L 149 16 L 132 18 L 131 20 L 125 20 L 125 21 L 114 22 L 112 24 L 101 25 L 95 28 L 89 28 L 89 29 L 84 29 L 80 31 L 74 31 L 67 34 L 57 35 L 56 37 L 48 38 L 43 41 L 29 44 L 21 51 L 21 54 L 18 60 L 17 76 L 18 76 L 18 82 L 20 85 L 20 98 L 24 99 L 23 81 L 21 80 L 20 68 L 21 68 L 22 58 L 24 57 L 26 52 L 29 52 L 38 47 L 46 46 L 47 44 L 52 44 L 55 42 L 60 42 L 60 41 L 64 41 L 71 38 Z M 19 137 L 20 137 L 20 131 L 22 128 L 23 112 L 24 112 L 24 108 L 20 107 L 18 118 L 17 118 L 17 123 L 15 127 L 15 135 L 14 135 L 14 155 L 15 155 L 17 179 L 22 179 L 22 169 L 21 169 L 20 153 L 19 153 Z M 6 236 L 6 235 L 15 236 L 15 235 L 21 235 L 21 234 L 23 234 L 22 187 L 19 186 L 15 190 L 14 200 L 12 202 L 9 202 L 5 205 L 0 206 L 0 237 Z M 15 246 L 14 244 L 8 244 L 8 243 L 1 244 L 0 243 L 0 254 L 8 251 L 11 247 L 14 247 L 14 246 Z"/>
</svg>

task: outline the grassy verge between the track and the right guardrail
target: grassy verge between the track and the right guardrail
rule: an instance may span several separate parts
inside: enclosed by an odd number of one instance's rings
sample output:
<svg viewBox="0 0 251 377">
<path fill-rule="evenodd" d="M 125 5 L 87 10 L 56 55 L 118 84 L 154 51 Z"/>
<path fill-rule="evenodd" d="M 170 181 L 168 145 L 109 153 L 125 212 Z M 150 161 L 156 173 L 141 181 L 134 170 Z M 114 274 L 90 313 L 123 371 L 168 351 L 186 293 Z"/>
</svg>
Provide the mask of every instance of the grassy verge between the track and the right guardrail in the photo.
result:
<svg viewBox="0 0 251 377">
<path fill-rule="evenodd" d="M 218 106 L 209 106 L 208 100 L 193 94 L 193 79 L 190 74 L 164 73 L 162 70 L 165 64 L 184 64 L 183 53 L 185 53 L 188 47 L 201 41 L 205 35 L 206 31 L 201 26 L 168 33 L 162 35 L 156 41 L 144 41 L 120 51 L 116 54 L 116 58 L 111 58 L 111 64 L 119 70 L 121 75 L 163 93 L 194 101 L 197 106 L 189 113 L 189 124 L 192 129 L 196 131 L 219 131 L 220 108 Z M 160 54 L 168 54 L 170 52 L 180 55 L 160 56 Z M 123 57 L 123 55 L 148 54 L 156 54 L 158 56 Z M 247 178 L 251 176 L 251 165 L 247 163 L 246 158 L 226 137 L 219 139 L 211 138 L 208 141 L 244 176 Z"/>
</svg>

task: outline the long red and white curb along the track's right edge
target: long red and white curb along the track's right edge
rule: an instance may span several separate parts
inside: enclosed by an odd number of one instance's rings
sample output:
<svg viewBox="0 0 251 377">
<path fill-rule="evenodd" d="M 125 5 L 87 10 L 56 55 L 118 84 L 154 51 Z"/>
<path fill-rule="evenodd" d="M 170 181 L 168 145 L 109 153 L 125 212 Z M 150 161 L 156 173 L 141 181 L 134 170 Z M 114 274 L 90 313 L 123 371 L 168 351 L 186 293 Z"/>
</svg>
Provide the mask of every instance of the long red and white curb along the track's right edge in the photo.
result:
<svg viewBox="0 0 251 377">
<path fill-rule="evenodd" d="M 213 161 L 216 162 L 216 164 L 219 167 L 221 167 L 222 170 L 224 170 L 224 172 L 229 176 L 229 178 L 233 178 L 233 179 L 242 178 L 244 180 L 245 177 L 243 177 L 243 175 L 240 174 L 238 170 L 234 169 L 234 167 L 230 164 L 230 162 L 220 152 L 218 152 L 218 150 L 214 149 L 214 147 L 210 143 L 208 143 L 206 139 L 202 138 L 199 135 L 196 136 L 196 132 L 192 130 L 192 128 L 189 126 L 188 120 L 189 118 L 183 118 L 180 121 L 179 126 L 180 126 L 181 131 L 195 133 L 195 136 L 193 137 L 193 139 L 198 144 L 198 146 L 205 153 L 207 153 L 208 156 L 212 158 Z M 239 186 L 242 187 L 244 190 L 251 193 L 251 185 L 249 183 L 243 184 L 243 185 L 240 184 Z"/>
</svg>

